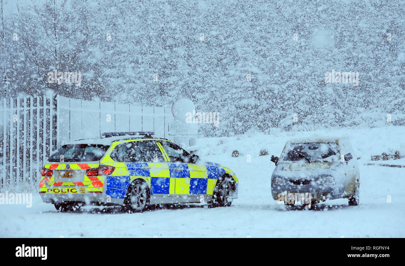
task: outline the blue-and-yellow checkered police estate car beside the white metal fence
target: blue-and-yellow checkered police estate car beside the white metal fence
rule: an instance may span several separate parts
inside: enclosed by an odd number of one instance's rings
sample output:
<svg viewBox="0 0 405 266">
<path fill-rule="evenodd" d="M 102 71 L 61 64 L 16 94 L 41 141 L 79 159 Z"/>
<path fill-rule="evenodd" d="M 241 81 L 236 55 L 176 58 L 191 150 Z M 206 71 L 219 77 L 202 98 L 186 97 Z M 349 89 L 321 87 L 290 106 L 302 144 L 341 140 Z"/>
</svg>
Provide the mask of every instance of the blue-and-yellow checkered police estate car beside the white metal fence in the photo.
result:
<svg viewBox="0 0 405 266">
<path fill-rule="evenodd" d="M 228 168 L 202 162 L 153 132 L 103 133 L 62 145 L 45 162 L 39 193 L 59 211 L 82 205 L 122 205 L 141 212 L 150 205 L 209 203 L 230 206 L 238 179 Z"/>
</svg>

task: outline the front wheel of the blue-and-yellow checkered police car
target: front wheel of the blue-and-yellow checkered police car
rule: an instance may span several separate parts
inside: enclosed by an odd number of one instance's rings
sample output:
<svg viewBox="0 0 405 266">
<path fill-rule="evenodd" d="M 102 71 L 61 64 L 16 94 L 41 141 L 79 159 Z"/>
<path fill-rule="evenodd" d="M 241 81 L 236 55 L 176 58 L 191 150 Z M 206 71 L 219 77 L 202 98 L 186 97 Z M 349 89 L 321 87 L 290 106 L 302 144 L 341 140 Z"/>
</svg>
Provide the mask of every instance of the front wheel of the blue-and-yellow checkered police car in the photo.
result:
<svg viewBox="0 0 405 266">
<path fill-rule="evenodd" d="M 229 207 L 232 204 L 232 192 L 234 180 L 232 177 L 222 175 L 218 178 L 217 185 L 214 188 L 211 207 Z"/>
</svg>

